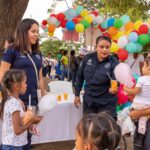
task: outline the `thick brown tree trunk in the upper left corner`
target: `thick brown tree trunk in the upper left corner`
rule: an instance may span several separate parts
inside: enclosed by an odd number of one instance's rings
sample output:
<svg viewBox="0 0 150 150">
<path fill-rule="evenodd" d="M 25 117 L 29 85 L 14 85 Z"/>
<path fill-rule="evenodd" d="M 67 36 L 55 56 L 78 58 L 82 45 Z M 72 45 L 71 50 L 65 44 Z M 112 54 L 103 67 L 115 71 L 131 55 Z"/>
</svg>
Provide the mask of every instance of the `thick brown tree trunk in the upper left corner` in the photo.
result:
<svg viewBox="0 0 150 150">
<path fill-rule="evenodd" d="M 0 0 L 0 50 L 8 35 L 14 35 L 29 0 Z"/>
</svg>

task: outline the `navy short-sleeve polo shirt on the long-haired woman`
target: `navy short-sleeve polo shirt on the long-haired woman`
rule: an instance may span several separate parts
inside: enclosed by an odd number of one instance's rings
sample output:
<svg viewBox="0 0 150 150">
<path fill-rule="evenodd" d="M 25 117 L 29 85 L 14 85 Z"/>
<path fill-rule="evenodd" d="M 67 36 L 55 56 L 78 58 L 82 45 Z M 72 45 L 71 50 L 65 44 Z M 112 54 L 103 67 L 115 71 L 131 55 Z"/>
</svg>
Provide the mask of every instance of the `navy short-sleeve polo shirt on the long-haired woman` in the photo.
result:
<svg viewBox="0 0 150 150">
<path fill-rule="evenodd" d="M 42 55 L 41 53 L 32 52 L 30 54 L 31 58 L 33 59 L 37 70 L 42 67 Z M 11 68 L 13 69 L 22 69 L 27 74 L 27 91 L 24 95 L 20 95 L 21 100 L 28 101 L 28 97 L 31 94 L 31 97 L 37 98 L 37 79 L 34 66 L 31 60 L 28 58 L 27 55 L 21 54 L 18 50 L 8 49 L 2 58 L 2 61 L 10 63 Z"/>
</svg>

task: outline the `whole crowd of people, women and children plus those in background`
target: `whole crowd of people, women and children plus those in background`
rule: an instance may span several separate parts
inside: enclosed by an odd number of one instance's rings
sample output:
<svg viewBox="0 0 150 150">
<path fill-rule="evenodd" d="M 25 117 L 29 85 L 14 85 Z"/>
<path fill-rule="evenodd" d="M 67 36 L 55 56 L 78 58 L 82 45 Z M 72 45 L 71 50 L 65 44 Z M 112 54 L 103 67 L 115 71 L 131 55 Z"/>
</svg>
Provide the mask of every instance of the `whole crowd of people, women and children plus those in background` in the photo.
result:
<svg viewBox="0 0 150 150">
<path fill-rule="evenodd" d="M 74 104 L 81 104 L 80 92 L 84 85 L 83 117 L 76 127 L 76 150 L 114 150 L 121 139 L 121 128 L 117 125 L 117 92 L 112 80 L 117 83 L 114 69 L 119 60 L 110 53 L 111 39 L 99 36 L 95 52 L 87 54 L 81 48 L 68 54 L 61 49 L 57 63 L 39 50 L 39 25 L 34 19 L 20 22 L 15 38 L 4 46 L 0 64 L 2 99 L 2 150 L 30 150 L 34 125 L 42 120 L 36 114 L 24 124 L 23 114 L 32 105 L 37 108 L 39 92 L 46 94 L 44 77 L 51 76 L 52 67 L 59 80 L 68 79 L 75 87 Z M 126 63 L 132 73 L 138 75 L 134 88 L 124 86 L 128 95 L 134 95 L 129 113 L 136 125 L 134 150 L 150 148 L 150 57 L 140 54 L 129 56 Z M 31 101 L 29 101 L 29 99 Z M 37 108 L 38 109 L 38 108 Z"/>
</svg>

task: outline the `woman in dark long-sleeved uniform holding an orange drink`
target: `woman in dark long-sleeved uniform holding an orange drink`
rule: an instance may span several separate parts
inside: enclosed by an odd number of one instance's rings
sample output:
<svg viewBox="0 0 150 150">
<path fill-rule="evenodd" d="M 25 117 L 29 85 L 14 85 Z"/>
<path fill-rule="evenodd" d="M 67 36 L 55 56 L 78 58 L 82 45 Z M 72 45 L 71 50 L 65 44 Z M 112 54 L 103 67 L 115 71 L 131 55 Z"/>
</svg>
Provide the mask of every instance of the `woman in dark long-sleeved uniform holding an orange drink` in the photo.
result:
<svg viewBox="0 0 150 150">
<path fill-rule="evenodd" d="M 110 55 L 111 39 L 99 36 L 96 40 L 96 52 L 87 54 L 77 73 L 74 104 L 81 104 L 80 91 L 85 80 L 83 96 L 83 113 L 99 113 L 108 111 L 116 119 L 117 82 L 112 88 L 111 81 L 115 80 L 114 69 L 118 60 Z"/>
</svg>

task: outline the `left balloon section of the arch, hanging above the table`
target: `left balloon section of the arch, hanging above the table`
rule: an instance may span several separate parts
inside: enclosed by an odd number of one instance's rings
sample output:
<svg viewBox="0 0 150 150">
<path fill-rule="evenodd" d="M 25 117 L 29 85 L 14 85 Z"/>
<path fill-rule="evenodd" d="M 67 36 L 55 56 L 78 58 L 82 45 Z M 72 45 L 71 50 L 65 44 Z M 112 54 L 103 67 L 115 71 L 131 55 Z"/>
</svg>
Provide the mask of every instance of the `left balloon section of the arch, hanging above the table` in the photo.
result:
<svg viewBox="0 0 150 150">
<path fill-rule="evenodd" d="M 89 12 L 82 6 L 77 6 L 69 8 L 65 12 L 50 14 L 47 19 L 42 21 L 41 27 L 48 35 L 53 36 L 55 29 L 58 27 L 80 33 L 91 27 L 91 24 L 105 27 L 106 22 L 103 15 L 100 15 L 97 11 Z"/>
</svg>

